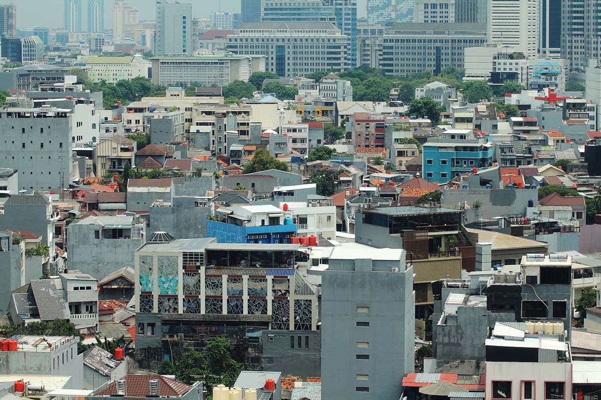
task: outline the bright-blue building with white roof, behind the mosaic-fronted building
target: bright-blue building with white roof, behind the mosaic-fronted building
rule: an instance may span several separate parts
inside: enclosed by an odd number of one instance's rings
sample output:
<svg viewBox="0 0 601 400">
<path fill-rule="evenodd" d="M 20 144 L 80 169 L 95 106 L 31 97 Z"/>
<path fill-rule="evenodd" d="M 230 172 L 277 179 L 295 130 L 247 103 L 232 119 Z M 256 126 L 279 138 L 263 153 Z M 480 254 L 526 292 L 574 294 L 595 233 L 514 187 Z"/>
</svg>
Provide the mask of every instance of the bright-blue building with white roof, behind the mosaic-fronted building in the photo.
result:
<svg viewBox="0 0 601 400">
<path fill-rule="evenodd" d="M 291 213 L 274 205 L 220 207 L 207 220 L 207 237 L 217 243 L 291 243 L 296 225 Z"/>
</svg>

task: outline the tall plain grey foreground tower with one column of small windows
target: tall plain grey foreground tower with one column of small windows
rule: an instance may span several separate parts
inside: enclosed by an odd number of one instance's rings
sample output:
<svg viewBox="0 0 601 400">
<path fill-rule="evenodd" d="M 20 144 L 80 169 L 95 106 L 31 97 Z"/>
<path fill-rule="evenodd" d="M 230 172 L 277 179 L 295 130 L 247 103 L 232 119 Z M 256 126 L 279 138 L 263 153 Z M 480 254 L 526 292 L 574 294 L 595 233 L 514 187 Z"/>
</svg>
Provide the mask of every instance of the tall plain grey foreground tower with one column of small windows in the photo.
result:
<svg viewBox="0 0 601 400">
<path fill-rule="evenodd" d="M 402 249 L 335 249 L 322 276 L 322 398 L 398 399 L 414 371 L 413 268 Z"/>
</svg>

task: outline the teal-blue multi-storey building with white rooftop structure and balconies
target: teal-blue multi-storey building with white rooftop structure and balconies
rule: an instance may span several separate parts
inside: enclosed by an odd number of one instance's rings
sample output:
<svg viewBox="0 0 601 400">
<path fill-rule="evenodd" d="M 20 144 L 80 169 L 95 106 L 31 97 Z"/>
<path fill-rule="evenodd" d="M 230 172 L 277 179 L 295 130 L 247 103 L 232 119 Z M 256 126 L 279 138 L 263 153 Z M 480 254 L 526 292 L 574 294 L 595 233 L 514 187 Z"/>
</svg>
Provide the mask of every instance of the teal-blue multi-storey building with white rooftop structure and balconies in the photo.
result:
<svg viewBox="0 0 601 400">
<path fill-rule="evenodd" d="M 490 136 L 475 137 L 471 129 L 449 129 L 442 138 L 422 146 L 423 178 L 447 183 L 460 174 L 492 166 L 494 145 Z"/>
</svg>

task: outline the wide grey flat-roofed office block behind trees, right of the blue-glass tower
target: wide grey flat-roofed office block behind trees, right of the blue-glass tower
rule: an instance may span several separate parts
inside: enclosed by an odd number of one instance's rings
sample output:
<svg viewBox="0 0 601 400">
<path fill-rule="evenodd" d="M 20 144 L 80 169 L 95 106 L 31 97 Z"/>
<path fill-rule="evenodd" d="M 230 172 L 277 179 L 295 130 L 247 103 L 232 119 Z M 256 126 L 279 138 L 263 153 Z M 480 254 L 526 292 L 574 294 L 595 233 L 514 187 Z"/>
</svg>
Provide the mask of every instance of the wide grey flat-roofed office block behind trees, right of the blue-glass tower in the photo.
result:
<svg viewBox="0 0 601 400">
<path fill-rule="evenodd" d="M 449 65 L 463 69 L 463 50 L 484 46 L 486 32 L 482 23 L 397 23 L 386 35 L 359 37 L 359 55 L 389 75 L 439 74 Z"/>
</svg>

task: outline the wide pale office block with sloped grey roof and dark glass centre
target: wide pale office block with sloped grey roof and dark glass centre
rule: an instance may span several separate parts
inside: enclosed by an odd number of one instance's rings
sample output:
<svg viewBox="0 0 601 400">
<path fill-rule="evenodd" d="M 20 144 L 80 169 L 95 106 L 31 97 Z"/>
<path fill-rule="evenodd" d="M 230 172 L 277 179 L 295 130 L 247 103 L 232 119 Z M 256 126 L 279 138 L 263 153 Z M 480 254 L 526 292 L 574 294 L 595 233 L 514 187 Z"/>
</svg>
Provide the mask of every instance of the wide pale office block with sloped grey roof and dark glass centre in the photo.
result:
<svg viewBox="0 0 601 400">
<path fill-rule="evenodd" d="M 278 76 L 304 76 L 346 70 L 348 40 L 329 22 L 248 22 L 228 36 L 227 50 L 267 56 L 265 70 Z"/>
</svg>

